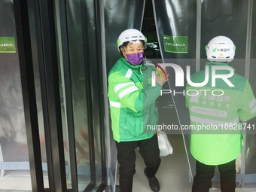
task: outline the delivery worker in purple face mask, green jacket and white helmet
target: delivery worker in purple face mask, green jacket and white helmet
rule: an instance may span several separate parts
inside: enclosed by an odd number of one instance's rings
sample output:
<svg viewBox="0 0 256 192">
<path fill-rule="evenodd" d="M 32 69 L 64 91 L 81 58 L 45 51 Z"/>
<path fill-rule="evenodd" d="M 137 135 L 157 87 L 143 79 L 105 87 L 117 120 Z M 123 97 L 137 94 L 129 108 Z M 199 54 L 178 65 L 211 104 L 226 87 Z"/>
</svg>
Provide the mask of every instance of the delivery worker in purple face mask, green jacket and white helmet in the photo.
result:
<svg viewBox="0 0 256 192">
<path fill-rule="evenodd" d="M 160 96 L 162 85 L 167 81 L 163 75 L 156 77 L 151 85 L 151 66 L 144 65 L 146 38 L 136 29 L 126 29 L 117 39 L 120 59 L 108 74 L 108 99 L 111 113 L 111 128 L 117 147 L 120 192 L 133 190 L 133 175 L 136 172 L 136 148 L 142 155 L 153 191 L 160 190 L 155 174 L 160 166 L 156 130 L 147 125 L 158 121 L 155 100 Z"/>
</svg>

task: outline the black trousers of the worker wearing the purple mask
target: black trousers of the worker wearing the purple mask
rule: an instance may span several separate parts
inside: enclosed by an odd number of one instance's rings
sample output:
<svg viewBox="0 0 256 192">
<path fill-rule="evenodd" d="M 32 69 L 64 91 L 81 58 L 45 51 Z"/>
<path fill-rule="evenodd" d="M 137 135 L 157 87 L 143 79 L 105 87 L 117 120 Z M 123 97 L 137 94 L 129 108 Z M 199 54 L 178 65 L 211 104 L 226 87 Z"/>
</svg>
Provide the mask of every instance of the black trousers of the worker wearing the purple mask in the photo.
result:
<svg viewBox="0 0 256 192">
<path fill-rule="evenodd" d="M 145 172 L 148 177 L 153 177 L 160 166 L 160 151 L 158 148 L 157 135 L 151 139 L 135 142 L 116 142 L 117 161 L 119 167 L 120 192 L 133 190 L 133 175 L 136 173 L 136 148 L 145 162 Z"/>
</svg>

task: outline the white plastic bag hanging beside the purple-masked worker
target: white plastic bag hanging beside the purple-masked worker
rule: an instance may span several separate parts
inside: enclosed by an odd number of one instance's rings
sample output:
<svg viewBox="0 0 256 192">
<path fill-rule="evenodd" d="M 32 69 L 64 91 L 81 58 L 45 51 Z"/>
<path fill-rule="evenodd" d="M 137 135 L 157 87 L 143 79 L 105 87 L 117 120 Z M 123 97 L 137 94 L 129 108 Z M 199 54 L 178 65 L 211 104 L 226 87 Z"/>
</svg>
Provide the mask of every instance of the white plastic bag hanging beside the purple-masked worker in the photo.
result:
<svg viewBox="0 0 256 192">
<path fill-rule="evenodd" d="M 160 150 L 160 157 L 172 154 L 172 145 L 169 143 L 167 134 L 161 130 L 157 131 L 158 148 Z"/>
</svg>

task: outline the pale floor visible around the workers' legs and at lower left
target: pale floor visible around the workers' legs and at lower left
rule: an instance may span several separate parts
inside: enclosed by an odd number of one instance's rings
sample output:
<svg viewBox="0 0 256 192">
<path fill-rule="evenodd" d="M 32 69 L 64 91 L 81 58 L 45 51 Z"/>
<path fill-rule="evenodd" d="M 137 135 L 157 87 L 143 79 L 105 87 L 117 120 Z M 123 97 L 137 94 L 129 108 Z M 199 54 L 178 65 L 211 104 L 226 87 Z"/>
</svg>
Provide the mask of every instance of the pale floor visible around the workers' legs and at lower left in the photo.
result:
<svg viewBox="0 0 256 192">
<path fill-rule="evenodd" d="M 190 192 L 191 182 L 182 136 L 169 135 L 169 141 L 172 144 L 173 154 L 161 158 L 162 163 L 157 172 L 157 178 L 159 179 L 161 186 L 160 191 Z M 133 181 L 134 192 L 151 192 L 151 189 L 148 186 L 148 179 L 143 173 L 144 168 L 145 164 L 139 151 L 137 151 L 136 174 L 134 175 Z M 16 192 L 17 190 L 31 191 L 29 173 L 24 172 L 23 175 L 17 175 L 15 172 L 6 172 L 5 177 L 0 177 L 0 192 Z M 210 192 L 221 192 L 221 190 L 219 190 L 219 184 L 214 183 Z M 256 181 L 255 183 L 246 184 L 242 188 L 236 188 L 236 192 L 256 192 Z"/>
</svg>

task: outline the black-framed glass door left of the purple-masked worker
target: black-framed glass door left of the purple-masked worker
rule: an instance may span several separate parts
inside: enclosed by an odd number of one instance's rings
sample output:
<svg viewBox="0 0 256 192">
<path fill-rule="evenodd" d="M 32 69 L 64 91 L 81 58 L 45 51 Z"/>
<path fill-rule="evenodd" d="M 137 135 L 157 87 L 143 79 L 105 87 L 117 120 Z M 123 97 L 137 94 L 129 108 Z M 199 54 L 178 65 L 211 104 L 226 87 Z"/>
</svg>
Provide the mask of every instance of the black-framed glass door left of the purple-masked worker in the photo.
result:
<svg viewBox="0 0 256 192">
<path fill-rule="evenodd" d="M 14 7 L 32 190 L 102 191 L 99 3 L 14 0 Z"/>
</svg>

